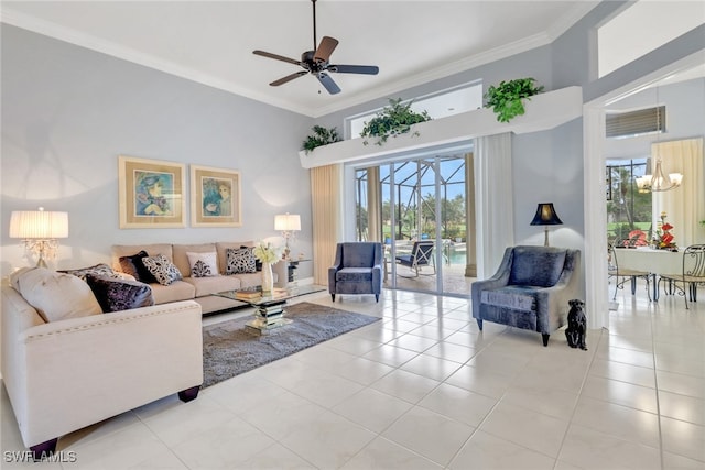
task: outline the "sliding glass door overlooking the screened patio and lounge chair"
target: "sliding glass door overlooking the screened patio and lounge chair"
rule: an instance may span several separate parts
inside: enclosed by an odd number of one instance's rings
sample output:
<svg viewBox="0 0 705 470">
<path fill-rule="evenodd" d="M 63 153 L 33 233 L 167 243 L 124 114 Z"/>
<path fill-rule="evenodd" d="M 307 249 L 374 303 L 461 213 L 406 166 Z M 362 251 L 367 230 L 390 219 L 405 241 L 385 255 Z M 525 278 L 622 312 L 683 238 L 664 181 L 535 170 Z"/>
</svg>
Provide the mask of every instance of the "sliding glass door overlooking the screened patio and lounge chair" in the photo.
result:
<svg viewBox="0 0 705 470">
<path fill-rule="evenodd" d="M 356 171 L 357 237 L 383 242 L 387 287 L 469 295 L 467 162 L 454 154 Z"/>
</svg>

